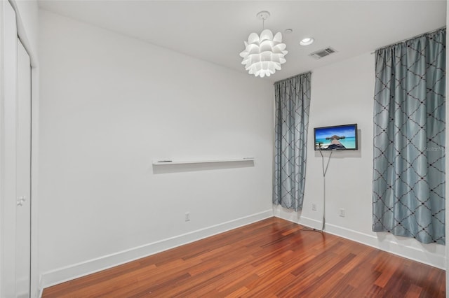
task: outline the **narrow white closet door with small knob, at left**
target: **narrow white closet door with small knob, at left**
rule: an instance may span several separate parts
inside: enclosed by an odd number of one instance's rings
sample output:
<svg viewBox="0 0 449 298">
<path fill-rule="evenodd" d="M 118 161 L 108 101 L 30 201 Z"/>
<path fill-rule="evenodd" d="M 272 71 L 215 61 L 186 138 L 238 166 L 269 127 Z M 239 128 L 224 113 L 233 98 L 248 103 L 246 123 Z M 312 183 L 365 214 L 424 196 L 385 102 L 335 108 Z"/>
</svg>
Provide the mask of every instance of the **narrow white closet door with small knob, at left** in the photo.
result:
<svg viewBox="0 0 449 298">
<path fill-rule="evenodd" d="M 31 65 L 18 41 L 18 129 L 15 218 L 15 293 L 29 297 L 31 264 Z"/>
</svg>

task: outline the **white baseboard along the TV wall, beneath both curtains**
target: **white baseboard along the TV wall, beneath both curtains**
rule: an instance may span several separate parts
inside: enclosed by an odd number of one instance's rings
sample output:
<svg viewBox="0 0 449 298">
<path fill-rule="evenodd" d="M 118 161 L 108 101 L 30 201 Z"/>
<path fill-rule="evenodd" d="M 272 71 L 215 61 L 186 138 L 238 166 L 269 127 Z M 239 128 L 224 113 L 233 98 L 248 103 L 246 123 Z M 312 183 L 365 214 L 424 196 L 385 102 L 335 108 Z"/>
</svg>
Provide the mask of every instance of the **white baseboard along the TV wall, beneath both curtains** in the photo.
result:
<svg viewBox="0 0 449 298">
<path fill-rule="evenodd" d="M 321 221 L 304 218 L 304 216 L 298 217 L 295 213 L 274 211 L 274 215 L 314 229 L 321 229 L 322 227 Z M 325 232 L 445 270 L 446 257 L 444 246 L 438 246 L 434 243 L 426 245 L 415 241 L 415 239 L 394 236 L 389 233 L 376 233 L 377 236 L 373 236 L 328 223 L 326 223 Z M 418 247 L 413 247 L 412 245 Z"/>
</svg>

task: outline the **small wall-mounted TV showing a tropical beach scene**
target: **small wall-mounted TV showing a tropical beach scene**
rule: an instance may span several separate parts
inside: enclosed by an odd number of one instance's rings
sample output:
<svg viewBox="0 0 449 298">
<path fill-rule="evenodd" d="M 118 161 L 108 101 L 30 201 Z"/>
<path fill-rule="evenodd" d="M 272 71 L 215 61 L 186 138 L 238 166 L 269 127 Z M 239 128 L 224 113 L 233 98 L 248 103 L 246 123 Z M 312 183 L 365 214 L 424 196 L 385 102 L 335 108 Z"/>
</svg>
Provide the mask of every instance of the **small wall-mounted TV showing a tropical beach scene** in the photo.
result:
<svg viewBox="0 0 449 298">
<path fill-rule="evenodd" d="M 357 125 L 314 128 L 315 150 L 357 150 Z"/>
</svg>

